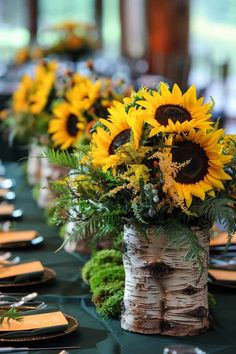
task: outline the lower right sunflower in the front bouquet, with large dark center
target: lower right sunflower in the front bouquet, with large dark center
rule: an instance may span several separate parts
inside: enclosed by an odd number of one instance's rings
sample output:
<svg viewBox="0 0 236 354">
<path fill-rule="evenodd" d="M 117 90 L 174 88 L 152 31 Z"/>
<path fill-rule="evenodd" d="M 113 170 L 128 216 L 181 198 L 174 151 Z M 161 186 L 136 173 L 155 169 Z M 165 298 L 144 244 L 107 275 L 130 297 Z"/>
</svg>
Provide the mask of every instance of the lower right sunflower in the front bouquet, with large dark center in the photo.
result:
<svg viewBox="0 0 236 354">
<path fill-rule="evenodd" d="M 166 192 L 170 195 L 177 193 L 185 200 L 187 207 L 192 203 L 192 197 L 204 200 L 206 193 L 215 196 L 214 190 L 224 189 L 223 182 L 231 177 L 224 171 L 232 156 L 222 154 L 219 139 L 223 131 L 195 131 L 169 137 L 166 141 L 172 148 L 165 148 L 166 159 L 180 166 L 173 183 Z M 182 165 L 182 167 L 181 167 Z"/>
</svg>

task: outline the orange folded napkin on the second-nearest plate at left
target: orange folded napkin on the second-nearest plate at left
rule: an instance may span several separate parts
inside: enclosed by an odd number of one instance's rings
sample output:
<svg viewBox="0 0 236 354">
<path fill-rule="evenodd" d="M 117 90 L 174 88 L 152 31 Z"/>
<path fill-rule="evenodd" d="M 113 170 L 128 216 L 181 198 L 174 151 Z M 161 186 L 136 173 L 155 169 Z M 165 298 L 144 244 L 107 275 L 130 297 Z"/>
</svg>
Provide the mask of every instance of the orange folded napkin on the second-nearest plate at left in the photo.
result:
<svg viewBox="0 0 236 354">
<path fill-rule="evenodd" d="M 41 279 L 44 267 L 39 261 L 27 261 L 0 267 L 0 284 L 25 283 Z"/>
</svg>

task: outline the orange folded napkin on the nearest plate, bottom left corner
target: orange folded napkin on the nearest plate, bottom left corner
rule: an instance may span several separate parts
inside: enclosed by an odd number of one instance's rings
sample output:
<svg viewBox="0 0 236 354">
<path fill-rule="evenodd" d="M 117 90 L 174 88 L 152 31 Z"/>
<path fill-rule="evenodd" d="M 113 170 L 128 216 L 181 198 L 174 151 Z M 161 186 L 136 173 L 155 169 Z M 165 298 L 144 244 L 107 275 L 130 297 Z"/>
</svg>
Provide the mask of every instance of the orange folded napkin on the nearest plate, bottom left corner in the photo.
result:
<svg viewBox="0 0 236 354">
<path fill-rule="evenodd" d="M 0 338 L 28 337 L 41 334 L 56 333 L 68 327 L 68 321 L 64 314 L 55 306 L 47 306 L 45 309 L 18 310 L 21 321 L 4 320 L 0 325 Z M 7 329 L 7 330 L 5 330 Z"/>
</svg>

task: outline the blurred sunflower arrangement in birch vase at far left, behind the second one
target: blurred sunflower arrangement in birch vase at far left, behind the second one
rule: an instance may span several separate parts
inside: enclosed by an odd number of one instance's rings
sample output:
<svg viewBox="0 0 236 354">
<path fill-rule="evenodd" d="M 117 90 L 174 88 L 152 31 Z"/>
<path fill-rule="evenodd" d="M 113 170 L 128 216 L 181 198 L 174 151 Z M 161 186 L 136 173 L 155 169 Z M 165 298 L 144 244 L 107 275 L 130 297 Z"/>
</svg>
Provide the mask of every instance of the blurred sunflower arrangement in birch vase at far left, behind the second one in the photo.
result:
<svg viewBox="0 0 236 354">
<path fill-rule="evenodd" d="M 25 74 L 14 92 L 9 108 L 2 112 L 2 128 L 7 129 L 9 141 L 17 139 L 29 146 L 28 179 L 34 184 L 40 178 L 42 146 L 48 143 L 48 123 L 56 97 L 58 64 L 41 61 L 32 75 Z"/>
</svg>

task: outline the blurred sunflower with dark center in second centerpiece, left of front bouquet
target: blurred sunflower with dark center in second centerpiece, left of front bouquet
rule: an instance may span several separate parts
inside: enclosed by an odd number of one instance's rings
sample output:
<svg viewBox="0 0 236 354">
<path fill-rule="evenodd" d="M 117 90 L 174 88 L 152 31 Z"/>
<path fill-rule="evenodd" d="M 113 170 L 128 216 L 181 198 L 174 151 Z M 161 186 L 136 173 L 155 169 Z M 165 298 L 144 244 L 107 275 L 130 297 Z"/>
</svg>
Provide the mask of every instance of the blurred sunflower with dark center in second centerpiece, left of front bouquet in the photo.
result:
<svg viewBox="0 0 236 354">
<path fill-rule="evenodd" d="M 53 109 L 54 118 L 49 122 L 48 132 L 56 146 L 67 149 L 74 145 L 84 133 L 86 121 L 74 107 L 63 102 Z"/>
</svg>

